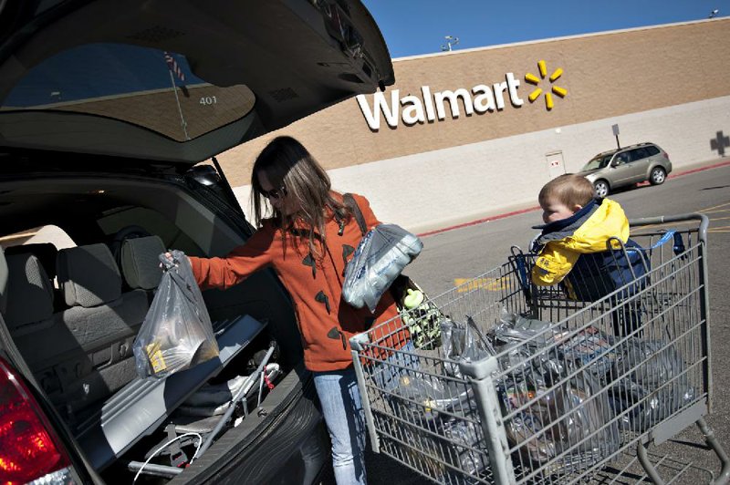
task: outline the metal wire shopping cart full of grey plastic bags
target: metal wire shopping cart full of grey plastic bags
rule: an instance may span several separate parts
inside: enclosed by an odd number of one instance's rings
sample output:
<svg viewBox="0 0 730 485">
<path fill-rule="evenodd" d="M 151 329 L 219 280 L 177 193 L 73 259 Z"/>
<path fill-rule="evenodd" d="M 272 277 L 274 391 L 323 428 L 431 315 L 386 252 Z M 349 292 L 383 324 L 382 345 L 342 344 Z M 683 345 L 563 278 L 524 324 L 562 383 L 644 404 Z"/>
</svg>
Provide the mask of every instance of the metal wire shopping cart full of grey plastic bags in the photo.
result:
<svg viewBox="0 0 730 485">
<path fill-rule="evenodd" d="M 448 484 L 727 482 L 730 460 L 704 421 L 707 226 L 700 214 L 631 222 L 644 269 L 597 301 L 531 284 L 534 254 L 513 248 L 428 302 L 422 324 L 438 308 L 441 342 L 389 345 L 418 315 L 353 337 L 373 449 Z M 648 449 L 693 423 L 716 474 Z"/>
</svg>

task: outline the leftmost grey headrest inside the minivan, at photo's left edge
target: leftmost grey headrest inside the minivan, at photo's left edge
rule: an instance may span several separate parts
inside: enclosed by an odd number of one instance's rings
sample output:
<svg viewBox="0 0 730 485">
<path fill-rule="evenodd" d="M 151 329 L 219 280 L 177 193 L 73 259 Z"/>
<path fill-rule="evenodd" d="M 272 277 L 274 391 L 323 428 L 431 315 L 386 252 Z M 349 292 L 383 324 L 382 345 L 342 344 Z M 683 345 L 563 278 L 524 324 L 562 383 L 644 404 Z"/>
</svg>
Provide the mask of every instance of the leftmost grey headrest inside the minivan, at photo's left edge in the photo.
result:
<svg viewBox="0 0 730 485">
<path fill-rule="evenodd" d="M 53 315 L 53 285 L 33 254 L 7 256 L 5 323 L 11 331 Z"/>
</svg>

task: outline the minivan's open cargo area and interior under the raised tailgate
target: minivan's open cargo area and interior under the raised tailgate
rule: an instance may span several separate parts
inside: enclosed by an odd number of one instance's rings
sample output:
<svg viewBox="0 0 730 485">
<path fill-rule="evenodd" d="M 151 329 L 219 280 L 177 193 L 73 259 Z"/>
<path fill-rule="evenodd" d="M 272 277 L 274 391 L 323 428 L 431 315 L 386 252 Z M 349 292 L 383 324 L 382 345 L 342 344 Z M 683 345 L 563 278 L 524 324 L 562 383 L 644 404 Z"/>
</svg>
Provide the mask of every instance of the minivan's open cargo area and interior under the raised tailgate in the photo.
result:
<svg viewBox="0 0 730 485">
<path fill-rule="evenodd" d="M 114 481 L 118 461 L 144 461 L 161 439 L 212 431 L 270 346 L 266 380 L 287 378 L 300 365 L 291 304 L 265 270 L 229 290 L 203 292 L 219 358 L 163 379 L 138 377 L 132 343 L 162 277 L 159 255 L 168 248 L 223 255 L 245 241 L 243 217 L 238 227 L 225 220 L 214 188 L 193 177 L 54 176 L 0 185 L 3 235 L 10 236 L 3 318 L 92 466 L 110 469 L 105 480 Z M 75 245 L 12 237 L 47 225 Z M 245 418 L 267 392 L 256 381 L 236 416 Z"/>
</svg>

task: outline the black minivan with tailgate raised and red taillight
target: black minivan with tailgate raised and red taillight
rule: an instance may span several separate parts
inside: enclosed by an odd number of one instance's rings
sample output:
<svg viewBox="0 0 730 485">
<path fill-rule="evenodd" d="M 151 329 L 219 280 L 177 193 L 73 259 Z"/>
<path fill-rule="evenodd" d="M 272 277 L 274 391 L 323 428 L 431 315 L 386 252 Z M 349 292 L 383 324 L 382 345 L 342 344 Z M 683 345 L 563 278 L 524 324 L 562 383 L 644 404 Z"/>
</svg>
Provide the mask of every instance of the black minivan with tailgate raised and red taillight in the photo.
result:
<svg viewBox="0 0 730 485">
<path fill-rule="evenodd" d="M 219 357 L 141 379 L 131 346 L 160 252 L 254 231 L 214 156 L 393 82 L 359 0 L 0 1 L 0 481 L 317 480 L 275 273 L 203 292 Z"/>
</svg>

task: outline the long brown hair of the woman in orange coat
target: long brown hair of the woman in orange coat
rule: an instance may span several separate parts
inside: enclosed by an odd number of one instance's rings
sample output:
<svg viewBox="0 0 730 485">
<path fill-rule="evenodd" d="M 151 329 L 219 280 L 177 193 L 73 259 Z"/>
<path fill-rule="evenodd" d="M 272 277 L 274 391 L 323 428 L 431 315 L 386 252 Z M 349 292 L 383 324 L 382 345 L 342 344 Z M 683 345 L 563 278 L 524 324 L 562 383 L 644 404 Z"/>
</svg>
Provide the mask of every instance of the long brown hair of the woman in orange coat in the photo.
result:
<svg viewBox="0 0 730 485">
<path fill-rule="evenodd" d="M 285 247 L 287 235 L 295 235 L 291 230 L 295 222 L 301 220 L 307 228 L 305 232 L 308 233 L 306 237 L 309 252 L 317 258 L 323 257 L 327 244 L 325 222 L 328 217 L 335 216 L 349 222 L 352 215 L 346 204 L 332 196 L 332 184 L 327 172 L 297 139 L 277 137 L 271 140 L 256 158 L 251 175 L 251 198 L 256 227 L 260 227 L 264 219 L 262 201 L 265 198 L 258 181 L 258 173 L 261 171 L 266 173 L 266 178 L 275 188 L 286 189 L 285 201 L 297 202 L 297 211 L 290 214 L 279 212 L 272 206 L 274 218 L 283 230 Z M 316 239 L 320 239 L 321 248 L 315 244 Z"/>
</svg>

